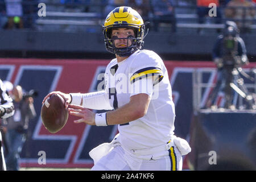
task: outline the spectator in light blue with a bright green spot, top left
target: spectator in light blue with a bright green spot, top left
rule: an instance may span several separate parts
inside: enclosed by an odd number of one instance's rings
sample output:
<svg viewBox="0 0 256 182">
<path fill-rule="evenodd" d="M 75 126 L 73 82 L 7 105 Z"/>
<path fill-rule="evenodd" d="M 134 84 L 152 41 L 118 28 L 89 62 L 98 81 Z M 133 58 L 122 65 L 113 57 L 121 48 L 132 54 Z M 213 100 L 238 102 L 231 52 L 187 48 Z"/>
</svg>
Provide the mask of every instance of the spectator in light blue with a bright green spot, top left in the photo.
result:
<svg viewBox="0 0 256 182">
<path fill-rule="evenodd" d="M 8 18 L 7 29 L 23 28 L 22 0 L 5 0 L 6 16 Z"/>
</svg>

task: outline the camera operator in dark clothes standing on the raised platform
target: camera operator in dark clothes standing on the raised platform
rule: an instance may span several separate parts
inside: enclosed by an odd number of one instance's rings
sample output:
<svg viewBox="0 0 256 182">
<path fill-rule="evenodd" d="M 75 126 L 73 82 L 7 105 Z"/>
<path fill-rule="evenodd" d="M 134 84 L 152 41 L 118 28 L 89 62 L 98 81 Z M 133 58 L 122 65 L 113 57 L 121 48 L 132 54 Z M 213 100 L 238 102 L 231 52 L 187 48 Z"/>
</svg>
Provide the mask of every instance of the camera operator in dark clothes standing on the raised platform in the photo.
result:
<svg viewBox="0 0 256 182">
<path fill-rule="evenodd" d="M 246 56 L 245 43 L 239 35 L 236 23 L 227 21 L 225 23 L 224 32 L 217 39 L 213 48 L 213 61 L 217 66 L 217 83 L 212 94 L 207 101 L 206 107 L 216 107 L 214 102 L 217 94 L 224 84 L 225 104 L 227 109 L 235 109 L 232 105 L 232 88 L 230 82 L 233 82 L 234 68 L 239 68 L 244 64 L 248 64 Z"/>
</svg>

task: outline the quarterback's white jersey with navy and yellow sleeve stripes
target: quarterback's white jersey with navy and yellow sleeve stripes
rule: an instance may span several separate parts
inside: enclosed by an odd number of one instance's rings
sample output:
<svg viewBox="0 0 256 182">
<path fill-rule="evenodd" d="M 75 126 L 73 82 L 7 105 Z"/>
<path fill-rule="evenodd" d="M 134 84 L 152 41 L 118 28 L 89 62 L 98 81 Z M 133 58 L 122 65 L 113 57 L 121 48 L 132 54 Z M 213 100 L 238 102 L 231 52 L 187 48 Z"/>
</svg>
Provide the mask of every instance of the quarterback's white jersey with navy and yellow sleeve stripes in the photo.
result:
<svg viewBox="0 0 256 182">
<path fill-rule="evenodd" d="M 144 87 L 136 91 L 131 89 L 138 80 L 143 81 L 151 75 L 159 81 L 151 85 L 153 93 Z M 118 140 L 123 146 L 129 150 L 157 147 L 166 144 L 174 135 L 175 106 L 171 84 L 163 60 L 155 52 L 138 50 L 121 63 L 117 63 L 117 59 L 110 61 L 106 67 L 105 86 L 113 109 L 127 104 L 135 94 L 151 96 L 146 115 L 118 125 Z"/>
</svg>

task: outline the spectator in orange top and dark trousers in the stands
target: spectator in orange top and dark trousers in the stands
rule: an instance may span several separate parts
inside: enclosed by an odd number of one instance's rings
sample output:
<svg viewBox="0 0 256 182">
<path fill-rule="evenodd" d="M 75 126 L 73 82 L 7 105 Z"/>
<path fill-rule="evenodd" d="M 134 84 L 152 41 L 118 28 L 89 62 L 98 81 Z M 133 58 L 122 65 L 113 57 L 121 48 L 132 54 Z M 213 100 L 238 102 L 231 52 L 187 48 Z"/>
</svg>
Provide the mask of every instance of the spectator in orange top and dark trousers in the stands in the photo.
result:
<svg viewBox="0 0 256 182">
<path fill-rule="evenodd" d="M 215 18 L 214 23 L 221 23 L 222 14 L 220 11 L 220 1 L 218 0 L 197 0 L 198 22 L 205 23 L 205 16 L 209 16 L 209 10 L 212 8 L 212 7 L 209 7 L 210 3 L 215 3 L 217 6 L 216 8 L 217 16 L 214 16 Z"/>
</svg>

